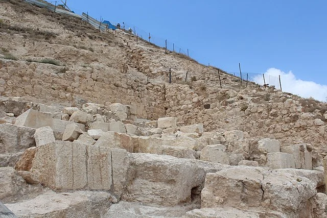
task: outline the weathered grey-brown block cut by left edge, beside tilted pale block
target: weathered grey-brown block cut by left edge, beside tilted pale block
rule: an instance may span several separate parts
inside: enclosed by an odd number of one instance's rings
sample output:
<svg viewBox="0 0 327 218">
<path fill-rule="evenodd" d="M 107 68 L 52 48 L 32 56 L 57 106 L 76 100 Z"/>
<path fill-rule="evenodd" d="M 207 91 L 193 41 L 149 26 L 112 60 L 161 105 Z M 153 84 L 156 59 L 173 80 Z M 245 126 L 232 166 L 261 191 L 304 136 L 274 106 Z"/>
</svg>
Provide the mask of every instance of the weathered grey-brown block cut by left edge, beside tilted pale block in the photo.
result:
<svg viewBox="0 0 327 218">
<path fill-rule="evenodd" d="M 0 124 L 0 154 L 24 152 L 35 147 L 35 129 L 13 124 Z"/>
</svg>

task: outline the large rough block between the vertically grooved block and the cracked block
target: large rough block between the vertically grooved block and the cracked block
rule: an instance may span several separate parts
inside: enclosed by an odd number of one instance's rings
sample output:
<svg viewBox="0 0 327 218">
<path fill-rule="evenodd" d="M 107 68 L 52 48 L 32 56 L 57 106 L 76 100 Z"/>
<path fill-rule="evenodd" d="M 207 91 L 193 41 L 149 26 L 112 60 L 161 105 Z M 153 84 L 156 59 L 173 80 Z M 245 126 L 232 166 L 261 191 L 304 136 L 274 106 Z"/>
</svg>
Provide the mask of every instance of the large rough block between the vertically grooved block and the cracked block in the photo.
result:
<svg viewBox="0 0 327 218">
<path fill-rule="evenodd" d="M 122 200 L 164 206 L 191 203 L 197 197 L 200 200 L 206 173 L 224 168 L 217 163 L 167 155 L 130 153 L 129 158 L 129 183 Z"/>
</svg>

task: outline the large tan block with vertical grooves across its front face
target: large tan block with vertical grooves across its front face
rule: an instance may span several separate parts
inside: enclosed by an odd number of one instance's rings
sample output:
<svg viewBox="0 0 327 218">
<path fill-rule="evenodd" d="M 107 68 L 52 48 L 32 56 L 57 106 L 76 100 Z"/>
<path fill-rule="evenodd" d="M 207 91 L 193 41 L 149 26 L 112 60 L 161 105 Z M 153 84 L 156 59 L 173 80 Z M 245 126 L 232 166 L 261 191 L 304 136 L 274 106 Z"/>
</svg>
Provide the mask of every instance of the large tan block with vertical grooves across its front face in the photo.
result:
<svg viewBox="0 0 327 218">
<path fill-rule="evenodd" d="M 111 150 L 56 141 L 38 148 L 31 173 L 55 189 L 103 189 L 111 186 Z"/>
</svg>

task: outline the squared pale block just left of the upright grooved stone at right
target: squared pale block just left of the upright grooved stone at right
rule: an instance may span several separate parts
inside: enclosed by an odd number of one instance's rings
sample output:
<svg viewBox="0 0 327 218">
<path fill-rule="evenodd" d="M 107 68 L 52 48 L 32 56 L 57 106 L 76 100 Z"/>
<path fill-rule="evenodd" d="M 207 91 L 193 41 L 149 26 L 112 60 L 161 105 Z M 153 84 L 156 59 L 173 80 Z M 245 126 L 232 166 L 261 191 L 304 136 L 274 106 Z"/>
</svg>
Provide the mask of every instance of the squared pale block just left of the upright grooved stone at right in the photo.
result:
<svg viewBox="0 0 327 218">
<path fill-rule="evenodd" d="M 266 166 L 273 169 L 295 168 L 294 157 L 283 152 L 268 153 Z"/>
</svg>

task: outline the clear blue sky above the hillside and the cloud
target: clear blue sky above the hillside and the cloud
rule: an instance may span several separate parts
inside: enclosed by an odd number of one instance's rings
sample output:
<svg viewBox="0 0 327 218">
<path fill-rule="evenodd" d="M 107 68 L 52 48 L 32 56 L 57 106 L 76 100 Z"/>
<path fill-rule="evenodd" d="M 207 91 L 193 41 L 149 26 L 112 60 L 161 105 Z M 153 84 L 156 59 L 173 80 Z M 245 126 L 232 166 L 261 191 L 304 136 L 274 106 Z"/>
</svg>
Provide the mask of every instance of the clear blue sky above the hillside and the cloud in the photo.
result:
<svg viewBox="0 0 327 218">
<path fill-rule="evenodd" d="M 327 1 L 67 0 L 67 5 L 98 20 L 124 21 L 162 44 L 174 42 L 200 63 L 236 72 L 239 62 L 243 72 L 276 68 L 294 75 L 295 82 L 326 85 L 327 96 Z"/>
</svg>

